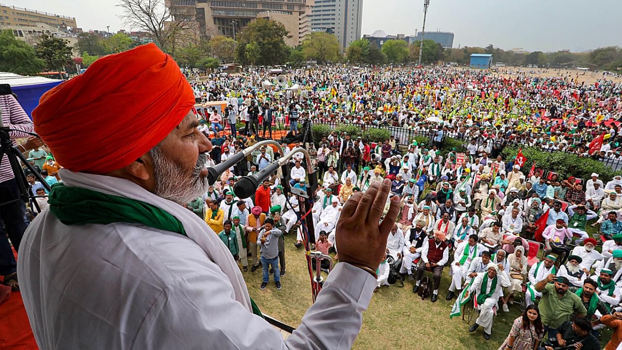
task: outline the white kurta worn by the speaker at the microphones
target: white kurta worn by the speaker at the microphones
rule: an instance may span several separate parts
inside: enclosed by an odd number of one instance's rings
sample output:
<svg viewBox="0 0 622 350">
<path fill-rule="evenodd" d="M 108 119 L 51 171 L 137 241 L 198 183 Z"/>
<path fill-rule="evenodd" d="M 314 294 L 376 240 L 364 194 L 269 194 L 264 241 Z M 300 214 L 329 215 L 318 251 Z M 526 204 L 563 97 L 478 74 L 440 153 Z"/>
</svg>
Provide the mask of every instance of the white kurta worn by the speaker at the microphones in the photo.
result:
<svg viewBox="0 0 622 350">
<path fill-rule="evenodd" d="M 38 215 L 24 234 L 18 271 L 40 349 L 351 348 L 376 287 L 369 273 L 339 263 L 284 340 L 251 313 L 231 253 L 193 212 L 128 180 L 60 174 L 67 186 L 161 207 L 189 237 L 138 224 L 67 226 L 49 210 Z M 326 328 L 327 319 L 340 326 Z"/>
</svg>

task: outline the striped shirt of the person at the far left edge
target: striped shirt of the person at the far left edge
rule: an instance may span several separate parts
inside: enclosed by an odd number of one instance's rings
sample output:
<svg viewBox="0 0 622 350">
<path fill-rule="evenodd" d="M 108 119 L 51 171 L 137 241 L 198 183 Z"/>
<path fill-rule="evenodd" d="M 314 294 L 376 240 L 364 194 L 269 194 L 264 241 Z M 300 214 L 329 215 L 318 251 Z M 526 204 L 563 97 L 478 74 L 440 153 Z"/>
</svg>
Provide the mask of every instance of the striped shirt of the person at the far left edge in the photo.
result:
<svg viewBox="0 0 622 350">
<path fill-rule="evenodd" d="M 19 105 L 19 102 L 17 102 L 12 95 L 0 96 L 0 109 L 2 110 L 2 123 L 4 123 L 4 126 L 8 126 L 11 129 L 34 133 L 34 125 L 32 124 L 32 120 L 28 118 L 24 108 Z M 11 140 L 13 140 L 13 146 L 17 144 L 15 141 L 16 139 L 27 138 L 30 136 L 26 132 L 22 133 L 19 131 L 11 131 L 9 133 Z M 11 180 L 14 177 L 15 176 L 11 171 L 11 164 L 9 164 L 9 158 L 5 154 L 2 156 L 2 162 L 0 163 L 0 182 Z"/>
</svg>

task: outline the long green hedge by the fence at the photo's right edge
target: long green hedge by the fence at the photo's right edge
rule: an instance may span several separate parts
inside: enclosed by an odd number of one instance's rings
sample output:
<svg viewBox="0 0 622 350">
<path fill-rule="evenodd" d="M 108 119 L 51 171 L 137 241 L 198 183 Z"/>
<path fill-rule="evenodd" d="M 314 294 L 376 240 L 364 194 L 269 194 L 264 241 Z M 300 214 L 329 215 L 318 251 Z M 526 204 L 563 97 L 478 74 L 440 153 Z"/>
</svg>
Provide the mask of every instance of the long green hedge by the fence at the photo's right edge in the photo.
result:
<svg viewBox="0 0 622 350">
<path fill-rule="evenodd" d="M 505 159 L 511 159 L 518 153 L 518 148 L 506 147 L 501 152 Z M 591 158 L 581 158 L 576 154 L 565 152 L 545 152 L 537 148 L 522 148 L 522 155 L 527 158 L 521 171 L 529 174 L 532 164 L 536 162 L 536 168 L 542 168 L 560 174 L 560 177 L 578 177 L 587 180 L 590 174 L 597 173 L 603 182 L 610 181 L 616 175 L 622 175 L 622 171 L 613 171 L 601 161 Z"/>
</svg>

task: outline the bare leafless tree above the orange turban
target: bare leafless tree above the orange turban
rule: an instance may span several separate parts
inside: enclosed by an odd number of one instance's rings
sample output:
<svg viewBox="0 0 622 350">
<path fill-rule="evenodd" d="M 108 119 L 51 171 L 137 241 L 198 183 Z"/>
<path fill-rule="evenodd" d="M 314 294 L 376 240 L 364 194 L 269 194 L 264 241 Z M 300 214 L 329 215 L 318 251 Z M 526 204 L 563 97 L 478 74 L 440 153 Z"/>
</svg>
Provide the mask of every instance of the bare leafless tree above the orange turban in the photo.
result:
<svg viewBox="0 0 622 350">
<path fill-rule="evenodd" d="M 179 33 L 193 27 L 190 16 L 175 14 L 163 0 L 119 0 L 121 19 L 129 27 L 149 32 L 162 50 L 175 53 Z"/>
</svg>

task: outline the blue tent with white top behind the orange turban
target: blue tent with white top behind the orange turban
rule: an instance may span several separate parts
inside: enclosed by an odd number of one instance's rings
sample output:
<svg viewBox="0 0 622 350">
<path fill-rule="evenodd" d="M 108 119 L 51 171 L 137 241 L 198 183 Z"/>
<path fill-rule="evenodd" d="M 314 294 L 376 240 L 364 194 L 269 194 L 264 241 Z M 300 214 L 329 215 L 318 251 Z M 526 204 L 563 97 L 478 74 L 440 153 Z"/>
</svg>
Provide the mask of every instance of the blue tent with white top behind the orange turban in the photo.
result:
<svg viewBox="0 0 622 350">
<path fill-rule="evenodd" d="M 0 72 L 0 84 L 11 85 L 11 90 L 17 95 L 17 102 L 22 105 L 26 114 L 32 119 L 32 110 L 39 105 L 39 98 L 51 88 L 62 83 L 63 80 L 44 77 L 24 77 L 14 73 Z"/>
</svg>

